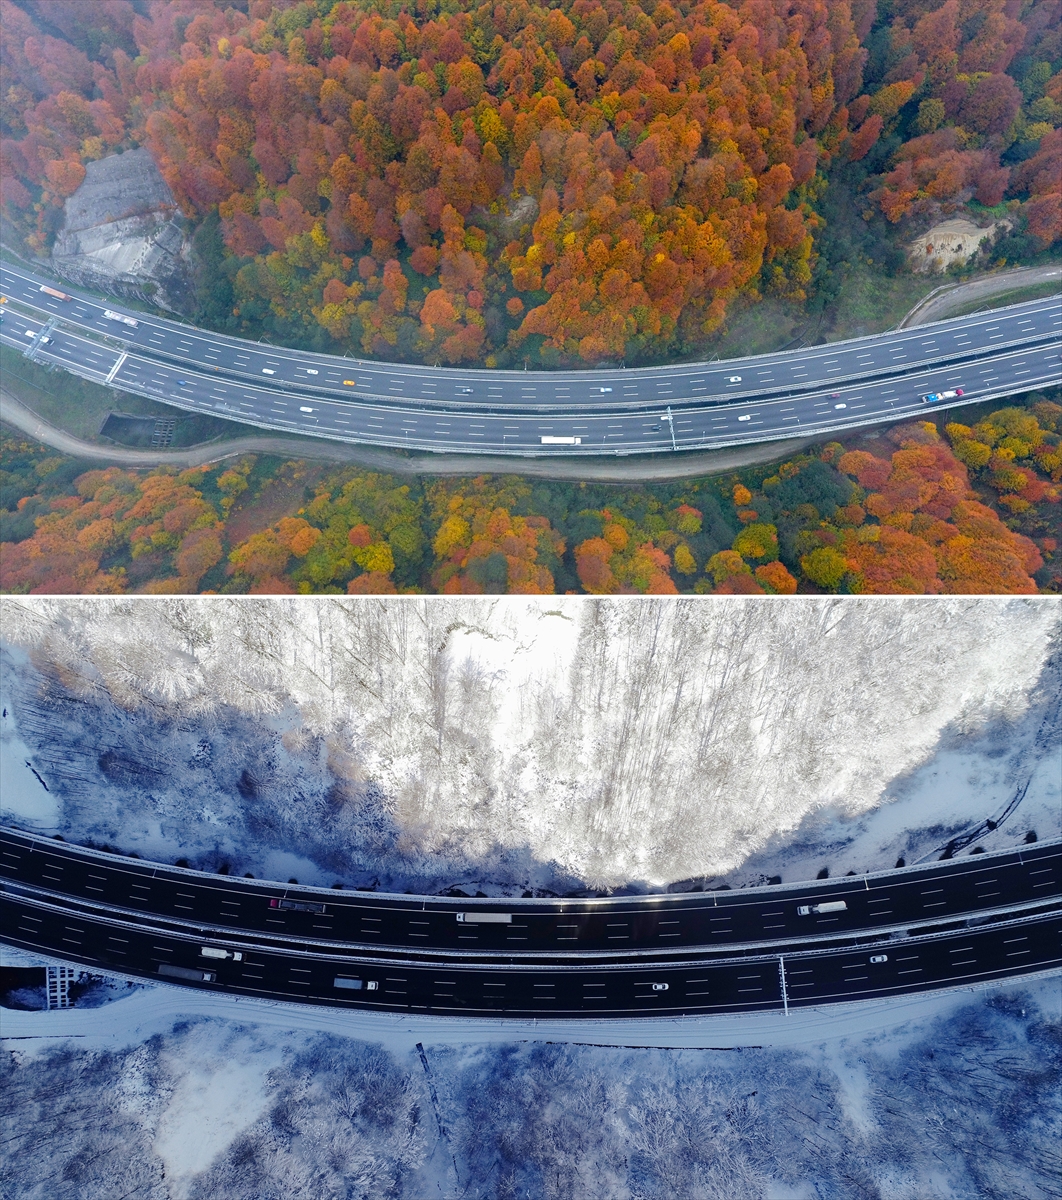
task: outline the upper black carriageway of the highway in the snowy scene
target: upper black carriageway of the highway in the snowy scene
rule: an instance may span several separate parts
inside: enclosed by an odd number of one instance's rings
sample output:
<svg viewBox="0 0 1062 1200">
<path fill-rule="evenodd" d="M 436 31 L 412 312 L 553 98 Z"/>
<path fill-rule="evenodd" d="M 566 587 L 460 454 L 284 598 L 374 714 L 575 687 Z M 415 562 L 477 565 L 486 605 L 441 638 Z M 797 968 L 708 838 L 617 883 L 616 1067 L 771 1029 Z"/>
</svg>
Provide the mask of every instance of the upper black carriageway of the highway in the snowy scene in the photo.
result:
<svg viewBox="0 0 1062 1200">
<path fill-rule="evenodd" d="M 233 878 L 0 830 L 0 886 L 167 928 L 460 959 L 671 954 L 937 928 L 1062 895 L 1062 845 L 1038 842 L 815 883 L 608 899 L 474 900 Z M 842 910 L 802 914 L 823 902 Z M 295 906 L 304 906 L 302 908 Z"/>
</svg>

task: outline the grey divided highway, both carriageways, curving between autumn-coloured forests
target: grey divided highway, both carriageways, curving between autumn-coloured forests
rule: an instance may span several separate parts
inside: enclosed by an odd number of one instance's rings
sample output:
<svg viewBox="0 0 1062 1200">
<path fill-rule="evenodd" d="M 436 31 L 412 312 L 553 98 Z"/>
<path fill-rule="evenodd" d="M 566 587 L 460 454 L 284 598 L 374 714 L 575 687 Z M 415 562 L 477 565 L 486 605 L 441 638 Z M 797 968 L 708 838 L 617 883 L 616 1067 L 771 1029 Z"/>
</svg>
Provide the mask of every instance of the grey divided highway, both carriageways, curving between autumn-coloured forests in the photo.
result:
<svg viewBox="0 0 1062 1200">
<path fill-rule="evenodd" d="M 0 341 L 41 362 L 262 428 L 416 450 L 703 450 L 914 416 L 931 392 L 962 389 L 972 403 L 1062 382 L 1058 296 L 727 362 L 544 372 L 272 348 L 42 286 L 0 264 L 0 292 L 22 310 L 5 313 Z"/>
</svg>

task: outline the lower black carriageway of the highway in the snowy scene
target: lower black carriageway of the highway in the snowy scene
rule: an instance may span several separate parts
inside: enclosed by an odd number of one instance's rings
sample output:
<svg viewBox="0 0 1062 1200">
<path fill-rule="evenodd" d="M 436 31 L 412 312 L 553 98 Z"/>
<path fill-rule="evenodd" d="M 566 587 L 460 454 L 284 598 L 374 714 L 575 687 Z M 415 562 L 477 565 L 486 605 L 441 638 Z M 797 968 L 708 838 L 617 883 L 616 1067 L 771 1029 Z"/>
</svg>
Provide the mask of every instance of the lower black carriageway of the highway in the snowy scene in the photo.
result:
<svg viewBox="0 0 1062 1200">
<path fill-rule="evenodd" d="M 286 1002 L 438 1015 L 660 1016 L 797 1008 L 1020 977 L 1062 965 L 1054 911 L 925 937 L 793 948 L 726 961 L 557 965 L 358 959 L 250 937 L 208 958 L 204 940 L 145 929 L 38 898 L 0 894 L 4 940 L 125 976 Z M 374 984 L 374 988 L 370 985 Z"/>
</svg>

